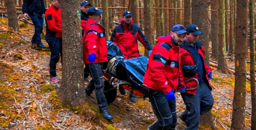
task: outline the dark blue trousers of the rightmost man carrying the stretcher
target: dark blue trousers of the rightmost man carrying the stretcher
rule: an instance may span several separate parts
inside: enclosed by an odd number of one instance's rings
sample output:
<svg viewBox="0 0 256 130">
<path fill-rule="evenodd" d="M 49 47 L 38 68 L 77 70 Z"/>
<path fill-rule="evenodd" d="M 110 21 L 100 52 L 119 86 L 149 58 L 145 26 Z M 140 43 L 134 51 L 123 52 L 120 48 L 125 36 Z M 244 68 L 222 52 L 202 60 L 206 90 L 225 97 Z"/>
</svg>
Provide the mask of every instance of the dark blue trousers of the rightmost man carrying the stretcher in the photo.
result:
<svg viewBox="0 0 256 130">
<path fill-rule="evenodd" d="M 211 90 L 203 82 L 198 86 L 196 95 L 181 93 L 181 97 L 186 104 L 187 130 L 197 130 L 200 124 L 200 115 L 212 109 L 213 97 Z"/>
</svg>

